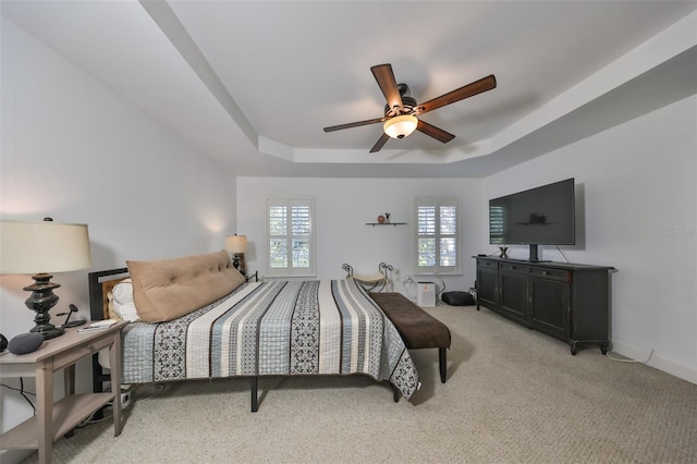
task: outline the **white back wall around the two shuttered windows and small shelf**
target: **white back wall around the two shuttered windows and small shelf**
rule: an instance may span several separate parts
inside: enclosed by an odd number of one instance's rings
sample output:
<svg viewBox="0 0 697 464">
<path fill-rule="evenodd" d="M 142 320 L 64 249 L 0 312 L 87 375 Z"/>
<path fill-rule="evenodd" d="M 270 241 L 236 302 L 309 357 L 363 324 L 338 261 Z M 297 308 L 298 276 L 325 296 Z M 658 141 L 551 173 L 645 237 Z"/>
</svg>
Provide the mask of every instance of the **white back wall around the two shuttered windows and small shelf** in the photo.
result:
<svg viewBox="0 0 697 464">
<path fill-rule="evenodd" d="M 245 258 L 250 271 L 265 272 L 265 200 L 273 196 L 314 196 L 317 236 L 317 277 L 343 278 L 348 262 L 359 273 L 377 272 L 381 261 L 391 264 L 399 278 L 414 274 L 413 203 L 417 196 L 460 198 L 463 276 L 443 278 L 445 290 L 467 290 L 474 284 L 470 256 L 477 254 L 472 215 L 481 203 L 479 180 L 473 179 L 288 179 L 239 178 L 237 224 L 250 243 Z M 406 225 L 371 227 L 379 215 Z M 432 278 L 424 278 L 432 280 Z M 398 283 L 395 291 L 415 296 L 414 285 Z M 411 294 L 409 294 L 411 292 Z"/>
</svg>

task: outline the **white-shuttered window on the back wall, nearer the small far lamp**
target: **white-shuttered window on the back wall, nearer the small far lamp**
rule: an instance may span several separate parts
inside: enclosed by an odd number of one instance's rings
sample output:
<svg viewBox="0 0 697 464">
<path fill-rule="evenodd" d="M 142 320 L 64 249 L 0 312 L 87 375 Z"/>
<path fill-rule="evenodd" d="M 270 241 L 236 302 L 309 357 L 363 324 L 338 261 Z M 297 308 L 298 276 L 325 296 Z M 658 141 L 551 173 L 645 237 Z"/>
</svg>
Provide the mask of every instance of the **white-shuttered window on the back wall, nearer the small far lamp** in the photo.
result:
<svg viewBox="0 0 697 464">
<path fill-rule="evenodd" d="M 270 277 L 315 276 L 311 198 L 267 200 Z"/>
</svg>

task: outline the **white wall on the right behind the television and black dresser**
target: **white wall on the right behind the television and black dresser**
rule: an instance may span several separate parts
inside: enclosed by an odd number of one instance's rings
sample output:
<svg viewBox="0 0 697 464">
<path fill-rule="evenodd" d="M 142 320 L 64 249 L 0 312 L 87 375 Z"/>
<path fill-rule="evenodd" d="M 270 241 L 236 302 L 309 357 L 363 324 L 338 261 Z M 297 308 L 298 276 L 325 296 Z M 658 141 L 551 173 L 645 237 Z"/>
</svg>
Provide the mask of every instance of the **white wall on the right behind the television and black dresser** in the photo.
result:
<svg viewBox="0 0 697 464">
<path fill-rule="evenodd" d="M 697 383 L 697 97 L 491 175 L 492 198 L 575 178 L 579 243 L 572 262 L 609 265 L 616 352 Z M 487 207 L 477 211 L 487 246 Z M 489 246 L 489 252 L 496 248 Z M 527 258 L 527 247 L 512 257 Z M 553 247 L 543 259 L 563 260 Z"/>
</svg>

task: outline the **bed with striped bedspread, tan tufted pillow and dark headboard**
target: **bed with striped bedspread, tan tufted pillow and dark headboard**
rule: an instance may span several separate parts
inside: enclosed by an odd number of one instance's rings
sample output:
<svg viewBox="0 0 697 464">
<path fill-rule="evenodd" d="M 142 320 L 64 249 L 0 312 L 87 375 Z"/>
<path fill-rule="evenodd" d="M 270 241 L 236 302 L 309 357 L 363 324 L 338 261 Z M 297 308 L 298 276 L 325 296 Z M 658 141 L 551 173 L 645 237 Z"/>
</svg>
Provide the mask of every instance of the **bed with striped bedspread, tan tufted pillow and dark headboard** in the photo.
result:
<svg viewBox="0 0 697 464">
<path fill-rule="evenodd" d="M 91 272 L 89 292 L 93 320 L 132 320 L 124 383 L 248 377 L 253 412 L 261 376 L 366 375 L 395 400 L 420 387 L 398 330 L 353 279 L 247 282 L 221 251 Z M 93 367 L 100 391 L 103 366 Z"/>
</svg>

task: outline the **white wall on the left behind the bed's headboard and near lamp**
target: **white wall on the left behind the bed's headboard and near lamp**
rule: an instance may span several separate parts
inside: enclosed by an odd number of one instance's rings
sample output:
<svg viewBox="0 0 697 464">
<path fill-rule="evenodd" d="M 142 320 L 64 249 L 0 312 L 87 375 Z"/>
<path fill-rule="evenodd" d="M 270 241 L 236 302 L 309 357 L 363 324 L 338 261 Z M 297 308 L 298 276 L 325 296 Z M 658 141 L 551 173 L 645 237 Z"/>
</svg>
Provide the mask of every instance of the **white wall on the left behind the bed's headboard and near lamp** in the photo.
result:
<svg viewBox="0 0 697 464">
<path fill-rule="evenodd" d="M 51 216 L 89 225 L 93 267 L 54 276 L 62 286 L 52 314 L 74 303 L 88 316 L 88 271 L 218 251 L 234 229 L 234 180 L 223 180 L 175 134 L 5 21 L 0 161 L 2 219 Z M 28 276 L 0 277 L 8 339 L 34 326 L 22 291 L 28 283 Z M 90 389 L 88 379 L 83 363 L 77 389 Z M 0 389 L 2 431 L 30 415 L 17 393 Z"/>
</svg>

